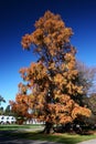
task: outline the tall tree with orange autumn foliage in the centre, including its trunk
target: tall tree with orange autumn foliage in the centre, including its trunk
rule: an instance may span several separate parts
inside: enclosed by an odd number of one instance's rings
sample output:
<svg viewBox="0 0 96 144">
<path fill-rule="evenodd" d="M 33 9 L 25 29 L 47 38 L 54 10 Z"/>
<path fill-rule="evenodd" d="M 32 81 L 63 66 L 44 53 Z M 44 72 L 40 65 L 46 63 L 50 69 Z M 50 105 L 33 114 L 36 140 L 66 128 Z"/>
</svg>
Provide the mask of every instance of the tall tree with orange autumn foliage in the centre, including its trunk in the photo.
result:
<svg viewBox="0 0 96 144">
<path fill-rule="evenodd" d="M 45 122 L 44 132 L 50 133 L 53 124 L 73 122 L 79 115 L 89 116 L 90 111 L 74 101 L 83 93 L 83 86 L 76 81 L 76 50 L 70 43 L 72 29 L 51 11 L 34 25 L 34 32 L 22 37 L 21 44 L 25 50 L 32 48 L 39 60 L 20 73 L 25 81 L 24 94 L 31 97 L 32 114 Z"/>
</svg>

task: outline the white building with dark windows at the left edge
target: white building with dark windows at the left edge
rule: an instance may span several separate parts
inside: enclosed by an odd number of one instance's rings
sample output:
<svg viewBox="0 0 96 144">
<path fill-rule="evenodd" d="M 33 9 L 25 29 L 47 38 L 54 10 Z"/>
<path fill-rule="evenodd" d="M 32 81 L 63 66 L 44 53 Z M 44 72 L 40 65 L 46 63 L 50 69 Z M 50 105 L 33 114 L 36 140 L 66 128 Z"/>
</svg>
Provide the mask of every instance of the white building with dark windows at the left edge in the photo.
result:
<svg viewBox="0 0 96 144">
<path fill-rule="evenodd" d="M 15 121 L 14 116 L 0 115 L 0 124 L 12 124 L 15 123 Z"/>
</svg>

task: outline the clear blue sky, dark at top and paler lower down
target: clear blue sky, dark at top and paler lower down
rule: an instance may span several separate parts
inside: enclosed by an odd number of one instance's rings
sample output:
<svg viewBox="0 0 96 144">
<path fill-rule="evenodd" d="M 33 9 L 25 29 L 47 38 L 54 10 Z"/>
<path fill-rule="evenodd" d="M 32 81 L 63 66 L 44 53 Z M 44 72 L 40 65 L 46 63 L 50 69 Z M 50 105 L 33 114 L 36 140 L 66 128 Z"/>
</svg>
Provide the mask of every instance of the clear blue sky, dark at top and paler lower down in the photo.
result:
<svg viewBox="0 0 96 144">
<path fill-rule="evenodd" d="M 14 100 L 21 81 L 19 70 L 35 61 L 35 55 L 23 51 L 21 38 L 33 31 L 34 22 L 46 10 L 61 14 L 74 31 L 71 43 L 77 59 L 96 65 L 96 1 L 95 0 L 0 0 L 0 94 Z"/>
</svg>

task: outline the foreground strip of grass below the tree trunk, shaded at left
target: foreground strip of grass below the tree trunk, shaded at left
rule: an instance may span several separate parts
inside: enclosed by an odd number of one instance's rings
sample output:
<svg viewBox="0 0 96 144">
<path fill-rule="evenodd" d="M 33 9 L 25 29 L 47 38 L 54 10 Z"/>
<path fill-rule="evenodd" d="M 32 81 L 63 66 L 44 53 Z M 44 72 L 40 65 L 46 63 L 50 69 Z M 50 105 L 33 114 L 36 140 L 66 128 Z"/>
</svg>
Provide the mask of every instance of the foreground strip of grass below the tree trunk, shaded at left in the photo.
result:
<svg viewBox="0 0 96 144">
<path fill-rule="evenodd" d="M 86 140 L 96 138 L 96 135 L 77 135 L 77 134 L 41 134 L 39 132 L 20 132 L 20 131 L 0 131 L 0 143 L 10 140 L 40 140 L 64 144 L 76 144 Z"/>
</svg>

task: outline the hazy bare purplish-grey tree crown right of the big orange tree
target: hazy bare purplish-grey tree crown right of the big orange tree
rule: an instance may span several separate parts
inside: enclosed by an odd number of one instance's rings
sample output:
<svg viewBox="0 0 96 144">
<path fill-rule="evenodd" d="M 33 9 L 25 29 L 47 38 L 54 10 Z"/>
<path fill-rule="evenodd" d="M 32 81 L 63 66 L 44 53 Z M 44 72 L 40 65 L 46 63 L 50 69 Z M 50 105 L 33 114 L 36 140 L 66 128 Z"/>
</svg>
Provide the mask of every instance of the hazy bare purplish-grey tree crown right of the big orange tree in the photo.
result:
<svg viewBox="0 0 96 144">
<path fill-rule="evenodd" d="M 94 88 L 94 81 L 96 79 L 96 68 L 87 66 L 81 61 L 76 61 L 76 68 L 78 70 L 78 83 L 83 85 L 83 91 L 88 95 Z"/>
</svg>

